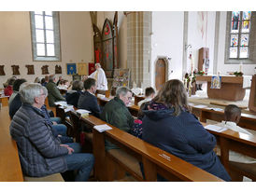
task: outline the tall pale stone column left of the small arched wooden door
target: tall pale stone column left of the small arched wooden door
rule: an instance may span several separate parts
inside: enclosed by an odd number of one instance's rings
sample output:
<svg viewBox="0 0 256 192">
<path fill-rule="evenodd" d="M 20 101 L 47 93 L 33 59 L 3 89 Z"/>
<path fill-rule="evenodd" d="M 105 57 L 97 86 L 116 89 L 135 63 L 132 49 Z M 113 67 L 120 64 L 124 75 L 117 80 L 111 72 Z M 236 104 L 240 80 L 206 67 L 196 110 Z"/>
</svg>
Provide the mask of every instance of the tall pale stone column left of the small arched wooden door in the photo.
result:
<svg viewBox="0 0 256 192">
<path fill-rule="evenodd" d="M 150 86 L 151 12 L 127 14 L 127 67 L 130 69 L 130 88 Z"/>
</svg>

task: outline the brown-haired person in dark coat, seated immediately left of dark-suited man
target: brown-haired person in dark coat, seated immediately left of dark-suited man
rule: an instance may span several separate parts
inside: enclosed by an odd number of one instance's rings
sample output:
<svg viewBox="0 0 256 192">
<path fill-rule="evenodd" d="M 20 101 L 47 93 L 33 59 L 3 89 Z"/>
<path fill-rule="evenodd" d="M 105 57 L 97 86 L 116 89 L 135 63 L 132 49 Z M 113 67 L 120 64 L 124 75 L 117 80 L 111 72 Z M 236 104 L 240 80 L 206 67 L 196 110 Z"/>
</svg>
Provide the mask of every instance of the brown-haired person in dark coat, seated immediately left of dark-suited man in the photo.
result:
<svg viewBox="0 0 256 192">
<path fill-rule="evenodd" d="M 72 90 L 68 90 L 65 94 L 65 101 L 67 104 L 72 104 L 78 108 L 78 99 L 82 94 L 83 82 L 76 80 L 73 81 Z"/>
</svg>

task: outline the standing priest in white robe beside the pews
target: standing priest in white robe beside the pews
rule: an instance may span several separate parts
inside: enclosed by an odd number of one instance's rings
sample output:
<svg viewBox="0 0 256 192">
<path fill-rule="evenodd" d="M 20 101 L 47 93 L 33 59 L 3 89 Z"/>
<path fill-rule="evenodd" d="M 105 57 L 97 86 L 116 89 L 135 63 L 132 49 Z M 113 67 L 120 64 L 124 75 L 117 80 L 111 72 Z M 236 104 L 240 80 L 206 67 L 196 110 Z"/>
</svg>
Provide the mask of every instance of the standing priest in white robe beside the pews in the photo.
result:
<svg viewBox="0 0 256 192">
<path fill-rule="evenodd" d="M 95 69 L 96 71 L 89 75 L 89 77 L 96 80 L 98 90 L 107 90 L 107 77 L 104 70 L 101 68 L 101 64 L 95 63 Z"/>
</svg>

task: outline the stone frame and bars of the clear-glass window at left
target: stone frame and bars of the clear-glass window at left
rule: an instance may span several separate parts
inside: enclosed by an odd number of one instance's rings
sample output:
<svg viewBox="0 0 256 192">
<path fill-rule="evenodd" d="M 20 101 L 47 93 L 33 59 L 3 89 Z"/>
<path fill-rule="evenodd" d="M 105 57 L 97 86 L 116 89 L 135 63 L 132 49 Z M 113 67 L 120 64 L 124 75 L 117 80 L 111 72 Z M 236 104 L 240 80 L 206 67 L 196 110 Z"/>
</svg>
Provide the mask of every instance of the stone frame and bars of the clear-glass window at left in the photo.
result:
<svg viewBox="0 0 256 192">
<path fill-rule="evenodd" d="M 44 35 L 46 35 L 45 29 L 45 11 L 43 11 L 44 18 Z M 48 17 L 48 16 L 46 16 Z M 30 24 L 31 24 L 31 42 L 32 42 L 32 55 L 34 62 L 61 62 L 61 34 L 60 34 L 60 17 L 58 11 L 52 11 L 52 24 L 54 35 L 54 51 L 55 56 L 38 56 L 36 50 L 36 23 L 35 23 L 35 11 L 30 11 Z M 45 51 L 46 48 L 46 36 L 44 39 Z"/>
</svg>

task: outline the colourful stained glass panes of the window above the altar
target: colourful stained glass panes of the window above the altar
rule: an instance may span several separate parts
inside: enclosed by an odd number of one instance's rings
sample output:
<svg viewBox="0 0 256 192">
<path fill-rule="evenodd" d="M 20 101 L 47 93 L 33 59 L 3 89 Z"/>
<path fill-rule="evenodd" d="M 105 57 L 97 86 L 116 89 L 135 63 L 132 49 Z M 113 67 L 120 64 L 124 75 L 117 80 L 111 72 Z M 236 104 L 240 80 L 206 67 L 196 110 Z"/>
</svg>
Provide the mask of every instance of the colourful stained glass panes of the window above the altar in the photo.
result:
<svg viewBox="0 0 256 192">
<path fill-rule="evenodd" d="M 251 11 L 232 11 L 230 30 L 230 59 L 249 58 Z"/>
</svg>

